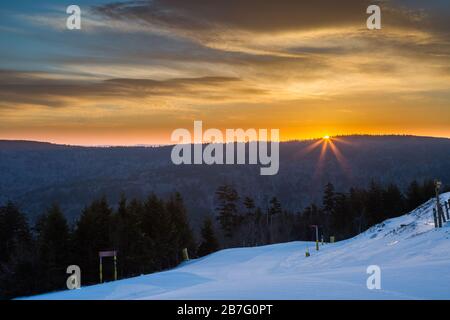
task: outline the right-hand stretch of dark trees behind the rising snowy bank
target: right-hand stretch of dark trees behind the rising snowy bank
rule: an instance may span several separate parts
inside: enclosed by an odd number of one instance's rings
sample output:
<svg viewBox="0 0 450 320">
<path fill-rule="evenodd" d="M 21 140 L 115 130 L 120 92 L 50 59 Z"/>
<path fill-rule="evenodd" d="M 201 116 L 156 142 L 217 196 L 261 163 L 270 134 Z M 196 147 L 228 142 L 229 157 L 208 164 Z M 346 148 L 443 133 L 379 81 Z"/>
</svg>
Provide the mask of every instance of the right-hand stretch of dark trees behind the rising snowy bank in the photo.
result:
<svg viewBox="0 0 450 320">
<path fill-rule="evenodd" d="M 301 212 L 283 208 L 277 197 L 265 206 L 241 197 L 232 185 L 216 192 L 217 220 L 225 246 L 257 246 L 294 240 L 314 240 L 312 225 L 318 225 L 327 241 L 353 237 L 385 219 L 403 215 L 434 196 L 434 182 L 413 181 L 403 193 L 395 184 L 374 181 L 368 188 L 337 192 L 328 183 L 321 204 L 311 204 Z"/>
</svg>

